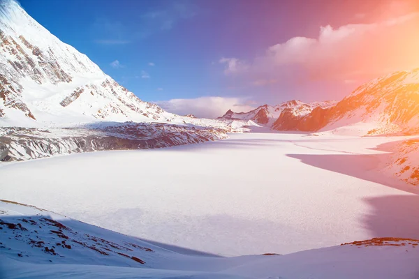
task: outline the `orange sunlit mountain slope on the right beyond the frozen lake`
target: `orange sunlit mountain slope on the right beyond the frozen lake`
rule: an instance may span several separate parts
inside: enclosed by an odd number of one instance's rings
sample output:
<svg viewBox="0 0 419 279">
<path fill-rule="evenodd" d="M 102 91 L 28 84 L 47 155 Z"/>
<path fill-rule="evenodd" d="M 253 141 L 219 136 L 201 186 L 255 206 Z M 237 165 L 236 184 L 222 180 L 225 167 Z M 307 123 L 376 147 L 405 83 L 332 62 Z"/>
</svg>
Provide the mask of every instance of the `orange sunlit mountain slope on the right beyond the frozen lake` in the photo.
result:
<svg viewBox="0 0 419 279">
<path fill-rule="evenodd" d="M 364 84 L 328 109 L 305 116 L 284 110 L 275 130 L 357 130 L 360 135 L 419 132 L 419 69 L 400 71 Z"/>
</svg>

